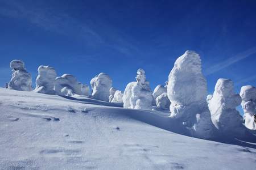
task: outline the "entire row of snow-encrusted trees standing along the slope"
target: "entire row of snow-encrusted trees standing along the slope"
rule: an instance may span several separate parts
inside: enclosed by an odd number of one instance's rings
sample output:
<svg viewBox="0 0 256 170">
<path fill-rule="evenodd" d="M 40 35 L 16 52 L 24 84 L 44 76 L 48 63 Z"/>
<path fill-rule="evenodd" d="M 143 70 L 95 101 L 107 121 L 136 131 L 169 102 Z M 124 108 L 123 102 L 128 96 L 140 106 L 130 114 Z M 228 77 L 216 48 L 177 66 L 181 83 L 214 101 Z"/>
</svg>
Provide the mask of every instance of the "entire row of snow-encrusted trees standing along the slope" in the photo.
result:
<svg viewBox="0 0 256 170">
<path fill-rule="evenodd" d="M 241 98 L 234 93 L 232 80 L 220 79 L 214 94 L 206 99 L 207 80 L 201 72 L 201 58 L 194 51 L 187 51 L 177 58 L 166 86 L 158 85 L 153 93 L 143 69 L 137 71 L 136 82 L 127 84 L 124 92 L 112 87 L 108 74 L 100 73 L 90 80 L 90 95 L 88 85 L 80 83 L 71 74 L 57 77 L 51 66 L 39 66 L 35 90 L 23 61 L 14 60 L 10 67 L 14 73 L 6 88 L 60 96 L 82 95 L 123 104 L 123 108 L 168 112 L 168 116 L 183 131 L 182 134 L 190 137 L 214 140 L 219 133 L 226 133 L 238 138 L 250 138 L 251 130 L 256 130 L 255 87 L 242 87 Z M 244 120 L 236 109 L 241 101 L 245 111 Z M 171 122 L 164 122 L 163 126 L 169 124 Z"/>
</svg>

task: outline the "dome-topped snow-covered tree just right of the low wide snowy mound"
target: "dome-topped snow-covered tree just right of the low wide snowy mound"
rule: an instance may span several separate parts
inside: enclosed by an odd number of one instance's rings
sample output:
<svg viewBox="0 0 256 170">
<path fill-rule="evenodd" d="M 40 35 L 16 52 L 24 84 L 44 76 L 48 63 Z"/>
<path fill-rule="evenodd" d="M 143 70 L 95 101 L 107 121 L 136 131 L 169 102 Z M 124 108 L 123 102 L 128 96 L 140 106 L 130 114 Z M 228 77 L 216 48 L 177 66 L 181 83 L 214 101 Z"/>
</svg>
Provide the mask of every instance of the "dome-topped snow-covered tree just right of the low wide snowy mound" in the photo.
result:
<svg viewBox="0 0 256 170">
<path fill-rule="evenodd" d="M 108 74 L 100 73 L 90 80 L 92 86 L 92 98 L 109 101 L 112 79 Z"/>
</svg>

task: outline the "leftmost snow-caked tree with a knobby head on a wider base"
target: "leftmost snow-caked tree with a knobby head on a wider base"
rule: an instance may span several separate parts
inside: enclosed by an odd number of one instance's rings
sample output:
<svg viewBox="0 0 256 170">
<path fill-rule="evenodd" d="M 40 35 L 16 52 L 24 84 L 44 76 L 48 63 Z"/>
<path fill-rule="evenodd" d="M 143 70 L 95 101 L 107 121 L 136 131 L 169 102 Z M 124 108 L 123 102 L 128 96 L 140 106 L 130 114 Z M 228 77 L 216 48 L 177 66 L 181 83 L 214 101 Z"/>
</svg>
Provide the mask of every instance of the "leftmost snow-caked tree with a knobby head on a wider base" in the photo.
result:
<svg viewBox="0 0 256 170">
<path fill-rule="evenodd" d="M 27 73 L 23 61 L 15 59 L 11 61 L 10 67 L 13 69 L 13 78 L 11 78 L 8 88 L 19 91 L 34 90 L 34 88 L 31 86 L 32 76 Z"/>
</svg>

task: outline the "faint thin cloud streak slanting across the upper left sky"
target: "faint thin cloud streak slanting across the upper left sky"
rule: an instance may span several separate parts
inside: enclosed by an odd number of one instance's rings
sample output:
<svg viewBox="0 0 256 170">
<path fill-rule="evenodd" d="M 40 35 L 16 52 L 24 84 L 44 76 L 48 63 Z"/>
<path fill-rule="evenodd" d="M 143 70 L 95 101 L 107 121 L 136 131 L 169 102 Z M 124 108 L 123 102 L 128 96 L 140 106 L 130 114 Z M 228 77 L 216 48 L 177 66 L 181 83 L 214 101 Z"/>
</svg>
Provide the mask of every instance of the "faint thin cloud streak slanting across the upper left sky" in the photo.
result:
<svg viewBox="0 0 256 170">
<path fill-rule="evenodd" d="M 123 32 L 118 33 L 119 31 L 108 22 L 102 20 L 101 25 L 94 25 L 92 20 L 99 20 L 97 16 L 97 19 L 81 21 L 68 14 L 56 13 L 53 9 L 42 10 L 34 6 L 24 6 L 19 2 L 2 1 L 1 3 L 0 15 L 22 19 L 46 31 L 84 42 L 86 46 L 93 48 L 105 46 L 127 56 L 130 56 L 131 52 L 141 53 L 137 45 L 126 38 L 129 36 Z"/>
</svg>

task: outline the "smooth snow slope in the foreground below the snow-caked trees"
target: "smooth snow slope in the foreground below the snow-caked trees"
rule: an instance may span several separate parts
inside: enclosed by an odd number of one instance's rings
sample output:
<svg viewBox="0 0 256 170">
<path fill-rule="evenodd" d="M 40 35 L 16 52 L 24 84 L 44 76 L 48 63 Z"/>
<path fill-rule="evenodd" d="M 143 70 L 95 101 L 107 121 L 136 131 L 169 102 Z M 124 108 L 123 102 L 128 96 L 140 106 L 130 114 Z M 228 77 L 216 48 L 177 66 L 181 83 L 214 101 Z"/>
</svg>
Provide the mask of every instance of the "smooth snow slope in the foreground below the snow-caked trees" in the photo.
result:
<svg viewBox="0 0 256 170">
<path fill-rule="evenodd" d="M 256 140 L 184 135 L 170 111 L 0 88 L 0 169 L 254 169 Z M 183 134 L 183 135 L 182 135 Z M 245 140 L 245 139 L 243 139 Z"/>
</svg>

